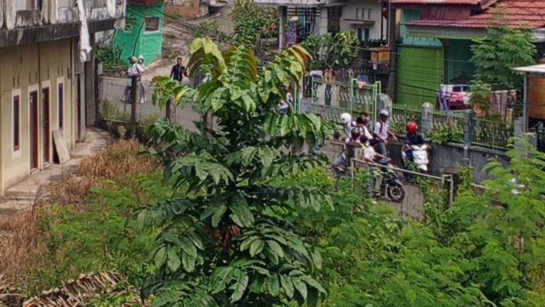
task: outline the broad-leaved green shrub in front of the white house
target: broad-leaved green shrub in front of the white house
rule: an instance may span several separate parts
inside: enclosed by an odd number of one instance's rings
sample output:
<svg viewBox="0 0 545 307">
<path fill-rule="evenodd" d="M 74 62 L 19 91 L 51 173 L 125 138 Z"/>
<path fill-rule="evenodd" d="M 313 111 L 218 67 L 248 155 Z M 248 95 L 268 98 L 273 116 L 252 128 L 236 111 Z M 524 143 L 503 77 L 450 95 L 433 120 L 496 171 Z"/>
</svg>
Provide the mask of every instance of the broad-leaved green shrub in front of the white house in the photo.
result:
<svg viewBox="0 0 545 307">
<path fill-rule="evenodd" d="M 324 66 L 350 67 L 360 50 L 360 41 L 353 31 L 310 35 L 302 44 L 312 55 L 311 69 Z"/>
</svg>

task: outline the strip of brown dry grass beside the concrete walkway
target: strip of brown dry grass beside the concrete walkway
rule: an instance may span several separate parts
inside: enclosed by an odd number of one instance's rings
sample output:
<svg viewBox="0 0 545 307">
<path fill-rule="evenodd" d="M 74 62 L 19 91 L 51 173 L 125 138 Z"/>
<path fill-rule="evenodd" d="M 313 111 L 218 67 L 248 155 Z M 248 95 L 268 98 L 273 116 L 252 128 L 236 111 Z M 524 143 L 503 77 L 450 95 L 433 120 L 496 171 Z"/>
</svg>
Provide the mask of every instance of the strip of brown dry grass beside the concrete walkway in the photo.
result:
<svg viewBox="0 0 545 307">
<path fill-rule="evenodd" d="M 150 156 L 140 155 L 137 141 L 118 141 L 99 154 L 82 160 L 72 176 L 52 182 L 44 188 L 49 196 L 32 210 L 0 219 L 0 231 L 8 236 L 0 237 L 0 275 L 12 283 L 19 283 L 21 275 L 33 260 L 45 251 L 45 234 L 40 228 L 40 214 L 51 204 L 73 204 L 85 209 L 86 197 L 92 186 L 104 180 L 120 180 L 131 174 L 147 172 L 156 167 Z M 0 305 L 1 306 L 1 305 Z"/>
</svg>

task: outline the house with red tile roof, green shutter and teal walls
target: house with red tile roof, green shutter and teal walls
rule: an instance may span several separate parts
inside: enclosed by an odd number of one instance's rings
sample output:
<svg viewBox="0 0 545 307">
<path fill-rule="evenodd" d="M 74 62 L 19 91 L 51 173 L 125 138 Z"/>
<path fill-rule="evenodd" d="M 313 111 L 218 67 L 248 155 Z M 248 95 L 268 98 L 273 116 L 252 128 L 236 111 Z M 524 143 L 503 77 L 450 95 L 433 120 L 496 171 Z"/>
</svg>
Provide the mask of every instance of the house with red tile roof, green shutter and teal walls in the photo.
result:
<svg viewBox="0 0 545 307">
<path fill-rule="evenodd" d="M 543 0 L 390 0 L 401 10 L 397 45 L 398 104 L 434 103 L 441 84 L 469 83 L 475 72 L 471 45 L 497 24 L 530 28 L 536 44 L 545 42 Z M 543 50 L 543 49 L 541 49 Z"/>
</svg>

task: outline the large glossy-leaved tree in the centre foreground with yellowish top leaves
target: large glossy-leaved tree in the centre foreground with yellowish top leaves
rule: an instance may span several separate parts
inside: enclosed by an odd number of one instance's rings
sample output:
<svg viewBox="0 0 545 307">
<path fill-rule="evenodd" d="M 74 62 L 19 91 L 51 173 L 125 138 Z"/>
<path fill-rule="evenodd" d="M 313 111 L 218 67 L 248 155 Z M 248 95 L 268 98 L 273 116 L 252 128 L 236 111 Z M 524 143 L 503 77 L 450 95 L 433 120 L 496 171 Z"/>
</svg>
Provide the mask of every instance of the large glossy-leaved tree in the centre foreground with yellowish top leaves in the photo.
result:
<svg viewBox="0 0 545 307">
<path fill-rule="evenodd" d="M 317 305 L 324 288 L 312 275 L 321 266 L 313 251 L 282 213 L 319 210 L 329 194 L 312 186 L 278 186 L 283 177 L 317 167 L 325 157 L 294 155 L 292 145 L 310 148 L 331 134 L 312 114 L 281 114 L 277 104 L 299 84 L 310 55 L 299 46 L 284 51 L 258 73 L 244 46 L 222 53 L 209 39 L 191 45 L 190 75 L 212 67 L 212 80 L 196 90 L 166 77 L 156 78 L 154 99 L 165 105 L 192 99 L 218 129 L 198 123 L 199 132 L 168 121 L 150 127 L 165 176 L 185 197 L 146 208 L 138 219 L 158 228 L 156 273 L 142 288 L 155 293 L 154 306 Z M 207 133 L 209 137 L 203 135 Z"/>
</svg>

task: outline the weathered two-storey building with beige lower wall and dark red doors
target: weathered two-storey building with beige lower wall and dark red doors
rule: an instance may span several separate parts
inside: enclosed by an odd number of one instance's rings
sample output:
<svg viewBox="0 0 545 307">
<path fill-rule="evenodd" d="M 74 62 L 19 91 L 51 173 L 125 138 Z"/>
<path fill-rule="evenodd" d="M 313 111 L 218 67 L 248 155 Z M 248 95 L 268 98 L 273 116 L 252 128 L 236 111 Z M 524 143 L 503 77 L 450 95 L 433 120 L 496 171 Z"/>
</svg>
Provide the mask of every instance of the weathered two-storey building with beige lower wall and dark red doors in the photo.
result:
<svg viewBox="0 0 545 307">
<path fill-rule="evenodd" d="M 54 162 L 96 118 L 94 34 L 122 26 L 125 0 L 0 1 L 0 195 Z"/>
</svg>

